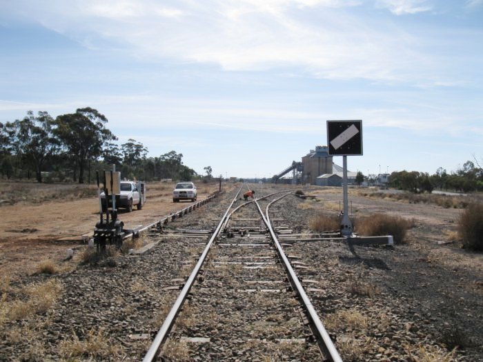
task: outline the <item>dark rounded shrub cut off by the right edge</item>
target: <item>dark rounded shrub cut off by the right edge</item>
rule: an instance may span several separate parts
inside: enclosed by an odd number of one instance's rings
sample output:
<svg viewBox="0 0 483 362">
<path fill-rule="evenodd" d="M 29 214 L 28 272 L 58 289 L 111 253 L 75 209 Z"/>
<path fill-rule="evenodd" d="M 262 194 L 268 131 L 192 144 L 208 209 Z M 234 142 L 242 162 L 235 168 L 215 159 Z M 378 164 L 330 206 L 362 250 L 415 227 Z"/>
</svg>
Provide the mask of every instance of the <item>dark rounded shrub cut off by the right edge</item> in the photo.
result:
<svg viewBox="0 0 483 362">
<path fill-rule="evenodd" d="M 458 233 L 463 241 L 463 248 L 483 250 L 483 204 L 471 204 L 460 214 Z"/>
</svg>

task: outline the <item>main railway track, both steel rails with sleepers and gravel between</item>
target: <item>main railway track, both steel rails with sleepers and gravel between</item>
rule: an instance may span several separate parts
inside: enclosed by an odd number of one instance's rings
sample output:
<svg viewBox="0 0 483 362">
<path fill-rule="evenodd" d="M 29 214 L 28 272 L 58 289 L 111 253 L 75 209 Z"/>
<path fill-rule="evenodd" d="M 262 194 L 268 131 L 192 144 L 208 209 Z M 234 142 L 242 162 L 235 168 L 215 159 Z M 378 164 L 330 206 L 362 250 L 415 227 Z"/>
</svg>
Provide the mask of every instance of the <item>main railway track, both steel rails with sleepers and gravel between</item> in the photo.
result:
<svg viewBox="0 0 483 362">
<path fill-rule="evenodd" d="M 237 192 L 144 361 L 160 352 L 194 361 L 342 361 L 277 240 L 272 225 L 282 220 L 270 221 L 270 205 L 290 192 L 280 193 L 237 205 Z"/>
</svg>

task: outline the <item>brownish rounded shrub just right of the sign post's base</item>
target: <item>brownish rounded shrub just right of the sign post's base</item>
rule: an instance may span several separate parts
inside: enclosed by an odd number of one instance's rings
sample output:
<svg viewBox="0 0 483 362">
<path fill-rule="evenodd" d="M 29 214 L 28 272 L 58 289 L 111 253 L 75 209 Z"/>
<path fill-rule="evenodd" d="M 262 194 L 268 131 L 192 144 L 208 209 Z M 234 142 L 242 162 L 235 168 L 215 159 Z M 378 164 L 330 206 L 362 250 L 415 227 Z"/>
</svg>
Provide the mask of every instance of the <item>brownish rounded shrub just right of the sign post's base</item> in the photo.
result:
<svg viewBox="0 0 483 362">
<path fill-rule="evenodd" d="M 373 214 L 357 221 L 357 232 L 364 236 L 392 235 L 394 243 L 404 243 L 408 229 L 412 228 L 414 221 L 402 217 L 392 217 L 386 214 Z"/>
</svg>

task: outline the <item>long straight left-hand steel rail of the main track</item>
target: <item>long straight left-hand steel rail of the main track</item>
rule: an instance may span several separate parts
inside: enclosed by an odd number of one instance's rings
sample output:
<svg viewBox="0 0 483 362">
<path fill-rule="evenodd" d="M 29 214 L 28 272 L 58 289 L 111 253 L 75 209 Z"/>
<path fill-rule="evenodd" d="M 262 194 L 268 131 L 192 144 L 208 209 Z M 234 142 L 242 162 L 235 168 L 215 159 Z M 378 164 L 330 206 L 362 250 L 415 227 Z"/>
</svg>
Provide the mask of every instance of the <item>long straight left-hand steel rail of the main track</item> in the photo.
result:
<svg viewBox="0 0 483 362">
<path fill-rule="evenodd" d="M 177 315 L 179 314 L 179 311 L 181 310 L 181 306 L 183 305 L 186 296 L 188 296 L 188 293 L 190 292 L 191 287 L 195 283 L 195 279 L 197 277 L 197 274 L 199 270 L 201 269 L 201 265 L 203 265 L 206 256 L 208 255 L 208 252 L 210 251 L 211 245 L 213 244 L 213 241 L 217 238 L 219 232 L 221 231 L 221 226 L 224 224 L 224 221 L 228 215 L 228 212 L 230 212 L 230 208 L 232 208 L 233 203 L 238 198 L 239 193 L 242 191 L 242 188 L 240 188 L 235 196 L 235 199 L 231 201 L 230 206 L 228 206 L 228 209 L 226 210 L 224 216 L 221 218 L 221 221 L 219 222 L 217 228 L 215 229 L 215 232 L 213 232 L 212 237 L 210 238 L 210 241 L 206 244 L 206 247 L 201 254 L 201 257 L 199 257 L 199 260 L 197 264 L 195 265 L 195 268 L 193 269 L 193 272 L 191 272 L 190 276 L 188 277 L 188 280 L 186 281 L 183 289 L 181 292 L 179 292 L 179 296 L 176 299 L 175 303 L 172 305 L 172 308 L 170 312 L 168 313 L 168 316 L 166 316 L 166 319 L 164 320 L 163 324 L 161 325 L 161 328 L 157 332 L 154 341 L 152 342 L 148 352 L 146 352 L 146 355 L 144 356 L 143 362 L 151 362 L 154 361 L 159 348 L 161 345 L 166 341 L 168 338 L 168 334 L 172 328 L 172 325 L 175 323 L 175 319 Z"/>
</svg>

